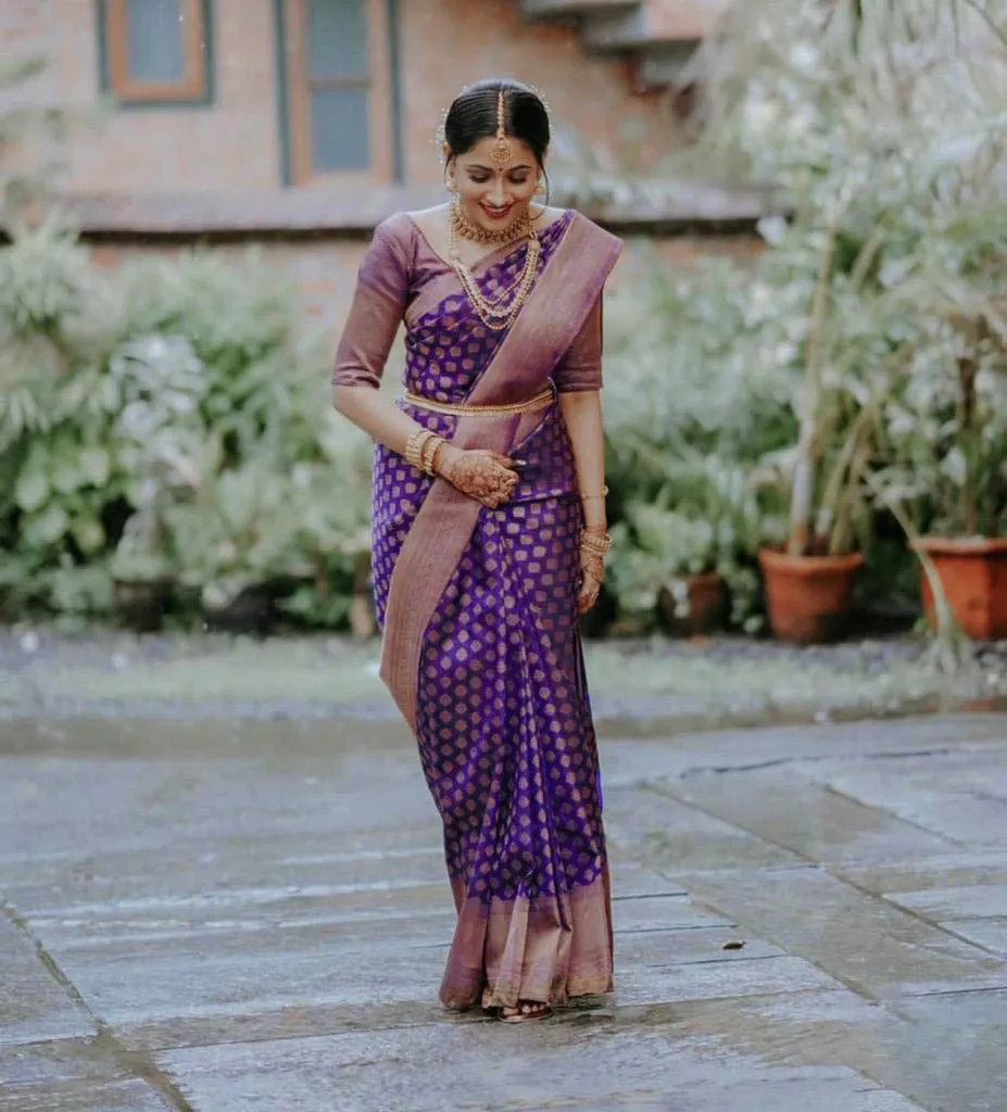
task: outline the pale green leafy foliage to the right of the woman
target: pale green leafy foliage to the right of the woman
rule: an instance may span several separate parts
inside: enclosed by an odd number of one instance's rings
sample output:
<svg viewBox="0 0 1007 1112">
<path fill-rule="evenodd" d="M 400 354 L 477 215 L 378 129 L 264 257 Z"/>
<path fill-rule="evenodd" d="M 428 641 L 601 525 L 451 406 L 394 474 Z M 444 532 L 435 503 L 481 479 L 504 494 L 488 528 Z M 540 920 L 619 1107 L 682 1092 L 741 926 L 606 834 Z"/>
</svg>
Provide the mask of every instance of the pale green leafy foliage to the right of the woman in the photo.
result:
<svg viewBox="0 0 1007 1112">
<path fill-rule="evenodd" d="M 743 473 L 749 556 L 890 559 L 889 508 L 914 530 L 1007 528 L 1005 18 L 1000 0 L 774 0 L 732 4 L 704 43 L 698 141 L 674 169 L 771 185 L 787 216 L 761 222 L 750 267 L 655 266 L 616 307 L 628 608 L 697 563 L 698 537 L 718 566 L 701 528 L 717 518 L 681 467 L 694 454 Z M 639 500 L 672 536 L 638 528 Z M 899 578 L 869 572 L 882 590 Z"/>
</svg>

